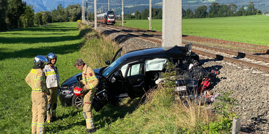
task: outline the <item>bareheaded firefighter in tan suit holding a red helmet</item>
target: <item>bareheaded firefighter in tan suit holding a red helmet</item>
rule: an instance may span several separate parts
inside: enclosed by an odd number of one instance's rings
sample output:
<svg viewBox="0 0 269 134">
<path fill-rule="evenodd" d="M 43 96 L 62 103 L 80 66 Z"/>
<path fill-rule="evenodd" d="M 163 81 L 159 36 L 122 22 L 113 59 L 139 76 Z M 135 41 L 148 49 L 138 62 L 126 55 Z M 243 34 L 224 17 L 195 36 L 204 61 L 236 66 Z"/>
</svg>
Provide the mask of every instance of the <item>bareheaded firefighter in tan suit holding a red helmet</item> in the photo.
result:
<svg viewBox="0 0 269 134">
<path fill-rule="evenodd" d="M 87 133 L 94 133 L 96 131 L 94 126 L 94 120 L 92 117 L 92 99 L 96 92 L 96 86 L 98 84 L 98 79 L 95 77 L 95 72 L 82 61 L 82 59 L 77 59 L 75 62 L 76 68 L 78 70 L 83 70 L 81 82 L 84 84 L 81 94 L 85 94 L 83 98 L 83 117 L 86 119 Z"/>
</svg>

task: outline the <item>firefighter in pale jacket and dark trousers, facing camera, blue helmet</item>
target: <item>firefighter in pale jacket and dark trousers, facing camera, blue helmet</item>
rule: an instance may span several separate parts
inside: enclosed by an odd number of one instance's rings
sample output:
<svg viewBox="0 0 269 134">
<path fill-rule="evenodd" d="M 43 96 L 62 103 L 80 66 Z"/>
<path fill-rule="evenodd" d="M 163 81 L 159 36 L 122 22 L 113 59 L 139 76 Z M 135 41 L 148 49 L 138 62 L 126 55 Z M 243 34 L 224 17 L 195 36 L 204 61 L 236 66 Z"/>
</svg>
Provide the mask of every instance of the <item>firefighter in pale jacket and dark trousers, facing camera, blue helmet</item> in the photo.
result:
<svg viewBox="0 0 269 134">
<path fill-rule="evenodd" d="M 46 75 L 46 84 L 49 91 L 47 94 L 48 106 L 47 106 L 47 122 L 56 121 L 56 108 L 57 108 L 57 93 L 60 89 L 59 80 L 60 75 L 57 67 L 55 66 L 57 61 L 57 55 L 50 52 L 47 55 L 48 65 L 45 66 L 44 73 Z"/>
</svg>

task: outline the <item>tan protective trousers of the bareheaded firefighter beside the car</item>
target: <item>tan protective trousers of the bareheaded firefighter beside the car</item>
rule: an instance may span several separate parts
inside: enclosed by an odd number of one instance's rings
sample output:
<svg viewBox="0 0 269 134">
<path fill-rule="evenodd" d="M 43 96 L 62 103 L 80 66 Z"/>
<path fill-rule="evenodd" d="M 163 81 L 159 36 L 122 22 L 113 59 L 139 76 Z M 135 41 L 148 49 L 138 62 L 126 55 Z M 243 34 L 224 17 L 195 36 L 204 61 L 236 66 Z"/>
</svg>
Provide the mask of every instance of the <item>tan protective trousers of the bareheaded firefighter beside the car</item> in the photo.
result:
<svg viewBox="0 0 269 134">
<path fill-rule="evenodd" d="M 83 98 L 83 117 L 86 119 L 87 129 L 95 128 L 95 122 L 92 117 L 92 99 L 95 96 L 96 89 L 89 90 Z"/>
</svg>

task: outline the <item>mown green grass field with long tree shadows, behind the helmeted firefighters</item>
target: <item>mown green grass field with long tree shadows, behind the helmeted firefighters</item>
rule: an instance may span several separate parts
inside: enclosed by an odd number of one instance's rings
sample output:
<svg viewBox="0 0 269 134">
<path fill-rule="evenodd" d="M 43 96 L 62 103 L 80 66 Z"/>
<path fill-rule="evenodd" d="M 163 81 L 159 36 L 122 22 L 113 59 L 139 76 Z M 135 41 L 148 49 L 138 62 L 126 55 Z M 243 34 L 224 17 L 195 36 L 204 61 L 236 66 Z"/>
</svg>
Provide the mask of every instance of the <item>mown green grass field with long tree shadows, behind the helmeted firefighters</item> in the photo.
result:
<svg viewBox="0 0 269 134">
<path fill-rule="evenodd" d="M 0 33 L 0 133 L 31 133 L 32 89 L 25 77 L 34 65 L 34 57 L 57 54 L 60 83 L 79 72 L 74 61 L 81 56 L 78 45 L 82 39 L 76 26 L 76 22 L 53 23 Z M 58 107 L 60 119 L 74 112 L 71 107 Z"/>
</svg>

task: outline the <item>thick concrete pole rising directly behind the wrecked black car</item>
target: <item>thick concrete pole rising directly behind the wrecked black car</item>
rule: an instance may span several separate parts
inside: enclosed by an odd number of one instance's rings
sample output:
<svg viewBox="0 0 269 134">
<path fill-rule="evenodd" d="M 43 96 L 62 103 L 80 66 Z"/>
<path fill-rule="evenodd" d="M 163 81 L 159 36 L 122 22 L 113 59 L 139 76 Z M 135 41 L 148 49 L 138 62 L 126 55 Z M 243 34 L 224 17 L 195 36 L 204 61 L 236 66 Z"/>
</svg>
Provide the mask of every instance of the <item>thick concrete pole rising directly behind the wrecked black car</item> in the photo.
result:
<svg viewBox="0 0 269 134">
<path fill-rule="evenodd" d="M 162 47 L 182 46 L 182 0 L 163 0 Z"/>
</svg>

